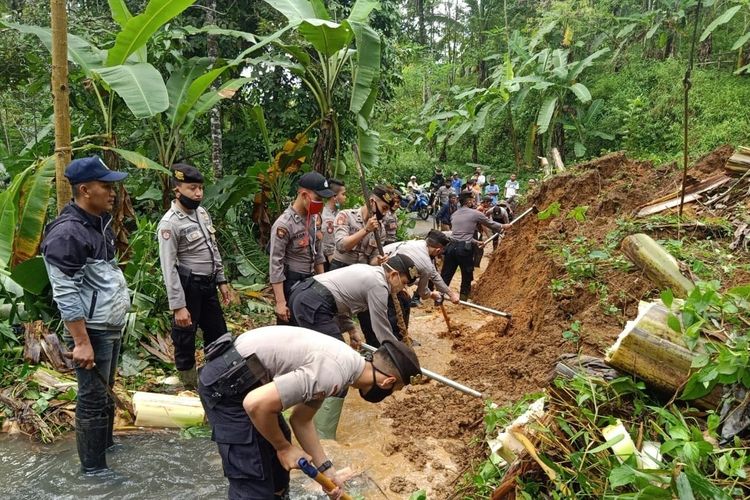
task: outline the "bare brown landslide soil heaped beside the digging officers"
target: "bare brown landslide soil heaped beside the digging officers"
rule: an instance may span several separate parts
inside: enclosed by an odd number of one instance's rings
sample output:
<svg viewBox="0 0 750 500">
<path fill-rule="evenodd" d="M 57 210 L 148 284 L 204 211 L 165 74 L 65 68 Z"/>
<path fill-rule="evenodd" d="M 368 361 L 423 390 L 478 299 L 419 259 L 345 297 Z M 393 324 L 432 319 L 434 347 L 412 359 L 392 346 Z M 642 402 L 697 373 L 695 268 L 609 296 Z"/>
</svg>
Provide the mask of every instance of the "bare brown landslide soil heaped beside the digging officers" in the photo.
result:
<svg viewBox="0 0 750 500">
<path fill-rule="evenodd" d="M 724 147 L 702 158 L 690 169 L 691 178 L 700 180 L 717 173 L 731 152 Z M 504 318 L 449 304 L 453 329 L 440 334 L 446 328 L 439 310 L 430 311 L 425 306 L 423 313 L 431 314 L 434 320 L 412 330 L 413 335 L 423 343 L 430 342 L 430 336 L 442 337 L 441 342 L 447 336 L 452 352 L 445 374 L 501 405 L 548 384 L 556 358 L 576 351 L 576 345 L 562 337 L 574 321 L 581 324 L 581 351 L 603 356 L 625 321 L 635 316 L 638 301 L 655 295 L 657 290 L 638 271 L 609 269 L 598 276 L 598 281 L 606 284 L 608 300 L 618 313 L 605 314 L 600 296 L 586 286 L 571 287 L 555 297 L 550 283 L 563 277 L 565 270 L 553 249 L 578 237 L 585 237 L 592 247 L 603 247 L 607 235 L 611 238 L 617 229 L 618 218 L 676 191 L 680 178 L 674 164 L 655 167 L 613 153 L 543 182 L 529 194 L 528 205 L 543 210 L 559 202 L 560 215 L 547 220 L 529 216 L 514 226 L 499 248 L 485 257 L 486 271 L 473 287 L 472 300 L 510 312 L 510 324 Z M 589 207 L 585 221 L 565 216 L 579 206 Z M 457 273 L 452 286 L 456 288 L 459 281 Z M 421 359 L 430 369 L 434 369 L 430 362 L 438 362 L 429 356 Z M 485 455 L 483 402 L 435 383 L 410 387 L 405 393 L 388 403 L 384 411 L 384 416 L 392 419 L 396 438 L 388 445 L 389 450 L 403 453 L 417 468 L 427 467 L 426 484 L 434 464 L 430 464 L 425 442 L 443 440 L 455 471 L 440 484 L 429 480 L 428 490 L 430 498 L 449 498 L 461 473 Z"/>
</svg>

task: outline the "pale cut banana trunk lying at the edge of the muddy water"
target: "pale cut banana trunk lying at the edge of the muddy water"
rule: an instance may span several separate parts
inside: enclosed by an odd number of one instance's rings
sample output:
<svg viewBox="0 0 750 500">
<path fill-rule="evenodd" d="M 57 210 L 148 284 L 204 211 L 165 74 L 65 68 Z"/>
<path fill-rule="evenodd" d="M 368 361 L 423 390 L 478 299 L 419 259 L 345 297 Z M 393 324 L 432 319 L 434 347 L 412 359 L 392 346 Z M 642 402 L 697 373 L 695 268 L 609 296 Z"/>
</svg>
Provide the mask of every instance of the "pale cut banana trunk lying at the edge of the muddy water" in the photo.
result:
<svg viewBox="0 0 750 500">
<path fill-rule="evenodd" d="M 192 427 L 206 416 L 200 399 L 190 396 L 136 392 L 133 408 L 137 427 Z"/>
</svg>

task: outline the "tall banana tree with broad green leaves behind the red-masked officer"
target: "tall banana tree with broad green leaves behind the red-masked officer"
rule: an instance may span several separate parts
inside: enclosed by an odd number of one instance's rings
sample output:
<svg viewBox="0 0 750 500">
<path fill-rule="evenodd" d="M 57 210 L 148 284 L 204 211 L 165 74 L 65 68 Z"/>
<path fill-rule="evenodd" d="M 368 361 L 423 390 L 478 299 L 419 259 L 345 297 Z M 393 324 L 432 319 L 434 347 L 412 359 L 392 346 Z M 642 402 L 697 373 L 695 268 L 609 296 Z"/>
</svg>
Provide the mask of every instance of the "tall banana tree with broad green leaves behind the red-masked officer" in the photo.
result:
<svg viewBox="0 0 750 500">
<path fill-rule="evenodd" d="M 349 111 L 357 124 L 362 161 L 374 166 L 378 161 L 378 134 L 369 126 L 380 77 L 380 36 L 367 25 L 377 8 L 373 0 L 357 0 L 349 17 L 334 22 L 321 0 L 266 0 L 283 14 L 289 25 L 280 32 L 294 31 L 305 42 L 300 45 L 277 42 L 289 60 L 273 58 L 265 62 L 284 66 L 310 90 L 319 110 L 318 137 L 312 166 L 321 173 L 343 173 L 341 128 L 334 94 L 346 82 L 342 72 L 351 69 Z M 277 32 L 278 33 L 278 32 Z M 334 162 L 331 170 L 330 163 Z"/>
</svg>

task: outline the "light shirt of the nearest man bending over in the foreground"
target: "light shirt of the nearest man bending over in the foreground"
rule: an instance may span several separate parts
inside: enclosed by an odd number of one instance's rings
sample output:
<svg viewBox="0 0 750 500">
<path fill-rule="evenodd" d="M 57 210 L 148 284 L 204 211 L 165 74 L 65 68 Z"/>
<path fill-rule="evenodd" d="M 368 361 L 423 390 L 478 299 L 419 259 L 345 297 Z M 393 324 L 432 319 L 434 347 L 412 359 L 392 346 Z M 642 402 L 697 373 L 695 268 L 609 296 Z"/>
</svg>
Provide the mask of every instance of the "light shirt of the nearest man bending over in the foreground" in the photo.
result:
<svg viewBox="0 0 750 500">
<path fill-rule="evenodd" d="M 344 342 L 297 326 L 248 330 L 234 346 L 240 356 L 258 357 L 284 409 L 299 403 L 320 405 L 354 383 L 365 368 L 364 358 Z"/>
</svg>

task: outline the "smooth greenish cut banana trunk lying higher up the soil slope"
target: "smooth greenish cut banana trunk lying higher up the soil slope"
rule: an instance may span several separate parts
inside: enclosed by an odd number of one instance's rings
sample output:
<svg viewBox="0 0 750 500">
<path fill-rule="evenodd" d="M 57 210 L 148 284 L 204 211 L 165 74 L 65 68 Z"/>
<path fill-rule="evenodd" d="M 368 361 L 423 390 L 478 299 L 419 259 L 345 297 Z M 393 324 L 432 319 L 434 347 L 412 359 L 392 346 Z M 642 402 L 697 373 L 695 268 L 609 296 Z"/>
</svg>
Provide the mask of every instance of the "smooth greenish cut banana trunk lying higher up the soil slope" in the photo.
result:
<svg viewBox="0 0 750 500">
<path fill-rule="evenodd" d="M 620 248 L 646 277 L 660 288 L 671 288 L 675 297 L 687 297 L 695 288 L 693 282 L 680 273 L 674 257 L 650 236 L 631 234 L 622 240 Z"/>
</svg>

